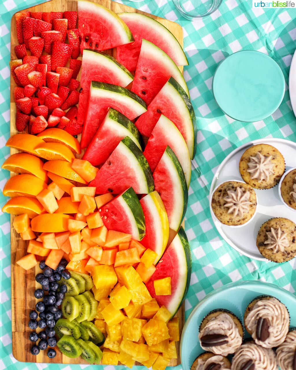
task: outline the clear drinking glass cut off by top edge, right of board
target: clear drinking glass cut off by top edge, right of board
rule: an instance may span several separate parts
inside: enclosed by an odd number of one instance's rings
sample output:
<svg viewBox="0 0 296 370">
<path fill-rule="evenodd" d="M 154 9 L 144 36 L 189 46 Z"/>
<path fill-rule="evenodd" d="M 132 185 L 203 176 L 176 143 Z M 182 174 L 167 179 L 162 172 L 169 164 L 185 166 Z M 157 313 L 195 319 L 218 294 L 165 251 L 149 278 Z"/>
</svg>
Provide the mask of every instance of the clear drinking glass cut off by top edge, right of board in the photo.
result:
<svg viewBox="0 0 296 370">
<path fill-rule="evenodd" d="M 195 20 L 212 14 L 222 0 L 173 0 L 173 3 L 184 18 Z"/>
</svg>

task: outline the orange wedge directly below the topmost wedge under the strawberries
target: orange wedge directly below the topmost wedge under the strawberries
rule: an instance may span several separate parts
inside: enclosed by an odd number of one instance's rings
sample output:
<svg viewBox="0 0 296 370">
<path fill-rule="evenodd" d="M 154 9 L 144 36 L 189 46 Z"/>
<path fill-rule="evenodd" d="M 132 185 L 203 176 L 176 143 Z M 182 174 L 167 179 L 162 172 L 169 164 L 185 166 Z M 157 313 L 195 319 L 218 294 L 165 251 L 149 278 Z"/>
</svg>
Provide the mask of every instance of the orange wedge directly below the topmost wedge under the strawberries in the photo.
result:
<svg viewBox="0 0 296 370">
<path fill-rule="evenodd" d="M 60 159 L 61 161 L 72 162 L 75 155 L 69 147 L 59 142 L 43 142 L 36 147 L 37 154 L 48 161 Z"/>
</svg>

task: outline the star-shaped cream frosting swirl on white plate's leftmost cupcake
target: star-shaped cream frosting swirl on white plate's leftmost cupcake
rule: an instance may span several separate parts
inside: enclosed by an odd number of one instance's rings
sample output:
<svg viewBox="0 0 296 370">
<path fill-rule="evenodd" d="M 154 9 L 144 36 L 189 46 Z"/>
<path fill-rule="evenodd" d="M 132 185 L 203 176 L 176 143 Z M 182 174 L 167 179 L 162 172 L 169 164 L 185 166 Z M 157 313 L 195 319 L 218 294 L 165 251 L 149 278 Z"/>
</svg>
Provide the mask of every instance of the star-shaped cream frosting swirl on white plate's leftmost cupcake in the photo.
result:
<svg viewBox="0 0 296 370">
<path fill-rule="evenodd" d="M 249 212 L 249 205 L 251 204 L 249 201 L 249 191 L 237 187 L 235 190 L 228 190 L 227 194 L 228 195 L 223 198 L 226 202 L 224 207 L 229 208 L 227 213 L 232 213 L 233 216 L 242 218 L 244 213 Z"/>
</svg>

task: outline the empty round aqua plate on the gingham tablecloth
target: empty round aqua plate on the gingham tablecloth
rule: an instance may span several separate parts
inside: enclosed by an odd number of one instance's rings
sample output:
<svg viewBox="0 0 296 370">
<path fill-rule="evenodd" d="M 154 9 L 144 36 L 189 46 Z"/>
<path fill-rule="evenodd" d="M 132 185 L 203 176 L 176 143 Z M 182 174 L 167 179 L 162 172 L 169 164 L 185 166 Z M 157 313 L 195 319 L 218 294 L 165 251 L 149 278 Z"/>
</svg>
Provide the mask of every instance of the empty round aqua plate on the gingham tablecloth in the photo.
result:
<svg viewBox="0 0 296 370">
<path fill-rule="evenodd" d="M 268 55 L 242 50 L 216 69 L 213 95 L 229 117 L 243 122 L 263 120 L 275 112 L 285 94 L 285 78 Z"/>
</svg>

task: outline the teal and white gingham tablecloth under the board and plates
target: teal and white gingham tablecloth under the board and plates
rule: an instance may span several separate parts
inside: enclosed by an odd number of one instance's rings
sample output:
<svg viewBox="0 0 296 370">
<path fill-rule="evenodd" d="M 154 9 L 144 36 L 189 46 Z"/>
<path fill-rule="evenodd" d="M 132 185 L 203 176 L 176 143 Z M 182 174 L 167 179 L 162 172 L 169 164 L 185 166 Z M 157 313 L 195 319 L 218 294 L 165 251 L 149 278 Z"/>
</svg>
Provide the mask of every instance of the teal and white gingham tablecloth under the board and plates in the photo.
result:
<svg viewBox="0 0 296 370">
<path fill-rule="evenodd" d="M 186 1 L 186 0 L 185 0 Z M 34 0 L 1 0 L 0 3 L 0 151 L 2 164 L 9 156 L 10 20 L 19 10 L 40 4 Z M 124 3 L 142 11 L 176 21 L 184 30 L 184 48 L 189 60 L 184 76 L 188 83 L 198 122 L 198 150 L 192 161 L 189 204 L 185 229 L 192 249 L 191 286 L 185 300 L 186 317 L 206 294 L 236 280 L 263 280 L 292 293 L 296 290 L 296 259 L 277 265 L 241 256 L 218 234 L 209 210 L 209 188 L 217 166 L 236 147 L 265 137 L 295 141 L 296 119 L 287 87 L 295 51 L 295 9 L 251 9 L 251 1 L 223 0 L 219 10 L 201 20 L 188 21 L 174 8 L 172 0 L 145 0 Z M 192 8 L 190 0 L 188 9 Z M 286 93 L 279 109 L 266 120 L 242 123 L 226 117 L 216 104 L 212 78 L 217 65 L 229 54 L 242 49 L 270 55 L 282 68 Z M 0 188 L 9 172 L 0 172 Z M 0 195 L 0 206 L 7 199 Z M 0 370 L 2 369 L 95 369 L 88 365 L 26 364 L 16 361 L 11 351 L 10 222 L 0 213 Z M 123 367 L 120 367 L 123 369 Z M 113 366 L 106 366 L 114 370 Z M 139 367 L 139 369 L 141 369 Z M 175 368 L 176 369 L 176 368 Z M 178 367 L 181 369 L 181 366 Z"/>
</svg>

